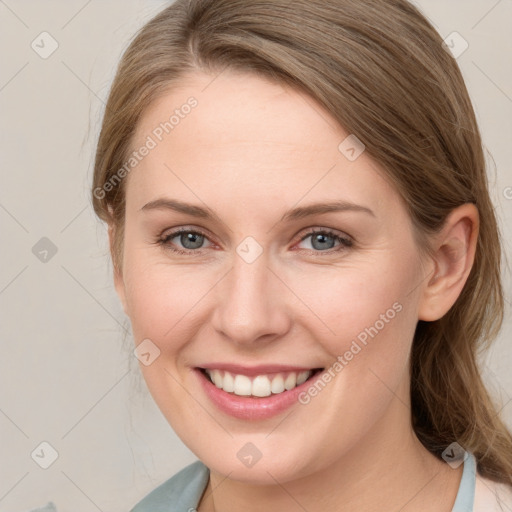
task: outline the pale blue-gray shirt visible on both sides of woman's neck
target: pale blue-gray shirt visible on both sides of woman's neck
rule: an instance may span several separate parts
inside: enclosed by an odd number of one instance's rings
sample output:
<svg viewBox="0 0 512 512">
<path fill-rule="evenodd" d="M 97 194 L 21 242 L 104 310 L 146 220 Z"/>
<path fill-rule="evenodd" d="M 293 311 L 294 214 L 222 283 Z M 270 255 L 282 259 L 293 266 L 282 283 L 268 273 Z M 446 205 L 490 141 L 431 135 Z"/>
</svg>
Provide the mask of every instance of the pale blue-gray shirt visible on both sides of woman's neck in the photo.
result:
<svg viewBox="0 0 512 512">
<path fill-rule="evenodd" d="M 209 469 L 196 461 L 143 498 L 130 512 L 196 512 L 208 485 Z M 512 512 L 512 489 L 477 474 L 468 453 L 452 512 Z"/>
</svg>

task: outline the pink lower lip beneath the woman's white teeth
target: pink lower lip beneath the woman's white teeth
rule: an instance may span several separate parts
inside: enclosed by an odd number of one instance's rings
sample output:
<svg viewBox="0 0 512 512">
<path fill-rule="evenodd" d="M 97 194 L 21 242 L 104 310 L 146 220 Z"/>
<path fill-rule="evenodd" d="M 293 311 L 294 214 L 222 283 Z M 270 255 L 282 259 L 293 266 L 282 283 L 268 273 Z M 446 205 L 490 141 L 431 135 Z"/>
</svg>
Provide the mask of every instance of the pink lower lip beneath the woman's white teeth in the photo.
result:
<svg viewBox="0 0 512 512">
<path fill-rule="evenodd" d="M 264 420 L 286 411 L 294 404 L 299 404 L 298 397 L 302 391 L 311 386 L 313 379 L 309 378 L 300 386 L 276 395 L 253 398 L 238 396 L 219 389 L 199 369 L 194 371 L 199 377 L 204 392 L 208 398 L 224 413 L 242 420 Z M 315 377 L 320 375 L 317 373 Z"/>
</svg>

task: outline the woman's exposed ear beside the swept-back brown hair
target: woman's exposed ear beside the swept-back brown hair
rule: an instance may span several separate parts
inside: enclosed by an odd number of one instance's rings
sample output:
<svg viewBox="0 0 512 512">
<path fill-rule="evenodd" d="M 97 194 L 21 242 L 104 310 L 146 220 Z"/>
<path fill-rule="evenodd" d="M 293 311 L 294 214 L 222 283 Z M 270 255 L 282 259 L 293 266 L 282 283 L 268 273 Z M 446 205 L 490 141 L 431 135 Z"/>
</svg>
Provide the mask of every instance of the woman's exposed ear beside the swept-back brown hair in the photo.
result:
<svg viewBox="0 0 512 512">
<path fill-rule="evenodd" d="M 475 259 L 478 229 L 478 210 L 468 203 L 453 210 L 435 235 L 433 272 L 420 298 L 419 320 L 439 320 L 459 297 Z"/>
</svg>

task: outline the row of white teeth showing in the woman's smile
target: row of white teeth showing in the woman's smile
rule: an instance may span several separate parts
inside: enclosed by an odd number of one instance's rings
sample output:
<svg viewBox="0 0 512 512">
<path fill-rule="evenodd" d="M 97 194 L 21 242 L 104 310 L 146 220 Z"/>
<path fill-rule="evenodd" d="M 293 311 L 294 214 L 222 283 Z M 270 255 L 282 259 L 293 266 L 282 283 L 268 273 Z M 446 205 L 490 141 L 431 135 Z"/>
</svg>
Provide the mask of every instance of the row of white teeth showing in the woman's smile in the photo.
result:
<svg viewBox="0 0 512 512">
<path fill-rule="evenodd" d="M 273 376 L 258 375 L 251 378 L 246 375 L 233 375 L 230 372 L 221 370 L 206 370 L 212 382 L 219 389 L 228 393 L 234 393 L 238 396 L 257 396 L 265 397 L 271 394 L 283 393 L 289 391 L 306 382 L 312 375 L 311 370 L 302 372 L 278 373 Z"/>
</svg>

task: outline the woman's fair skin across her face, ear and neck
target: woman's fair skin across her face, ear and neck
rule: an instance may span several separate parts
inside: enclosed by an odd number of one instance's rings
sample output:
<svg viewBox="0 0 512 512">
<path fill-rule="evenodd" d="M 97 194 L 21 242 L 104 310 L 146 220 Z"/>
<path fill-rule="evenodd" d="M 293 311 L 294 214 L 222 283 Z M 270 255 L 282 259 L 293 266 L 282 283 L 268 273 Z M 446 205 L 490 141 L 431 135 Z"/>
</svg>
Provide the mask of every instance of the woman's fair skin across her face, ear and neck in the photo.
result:
<svg viewBox="0 0 512 512">
<path fill-rule="evenodd" d="M 408 364 L 417 321 L 443 316 L 462 290 L 477 210 L 454 210 L 433 238 L 435 257 L 426 257 L 397 192 L 366 153 L 349 161 L 339 151 L 349 133 L 321 106 L 258 76 L 214 78 L 191 74 L 140 120 L 134 148 L 187 98 L 198 101 L 127 178 L 115 274 L 136 344 L 150 339 L 160 349 L 141 365 L 148 388 L 210 468 L 200 512 L 449 512 L 462 467 L 451 469 L 414 435 Z M 218 218 L 141 210 L 162 198 Z M 334 200 L 373 214 L 282 220 L 291 208 Z M 206 235 L 199 249 L 172 252 L 191 246 L 180 236 L 158 243 L 180 227 Z M 352 245 L 327 238 L 322 250 L 314 236 L 301 241 L 312 229 Z M 252 263 L 236 251 L 248 236 L 263 250 Z M 220 412 L 193 372 L 213 361 L 329 368 L 395 303 L 401 311 L 317 396 L 273 418 Z M 250 468 L 237 457 L 248 442 L 262 454 Z"/>
</svg>

